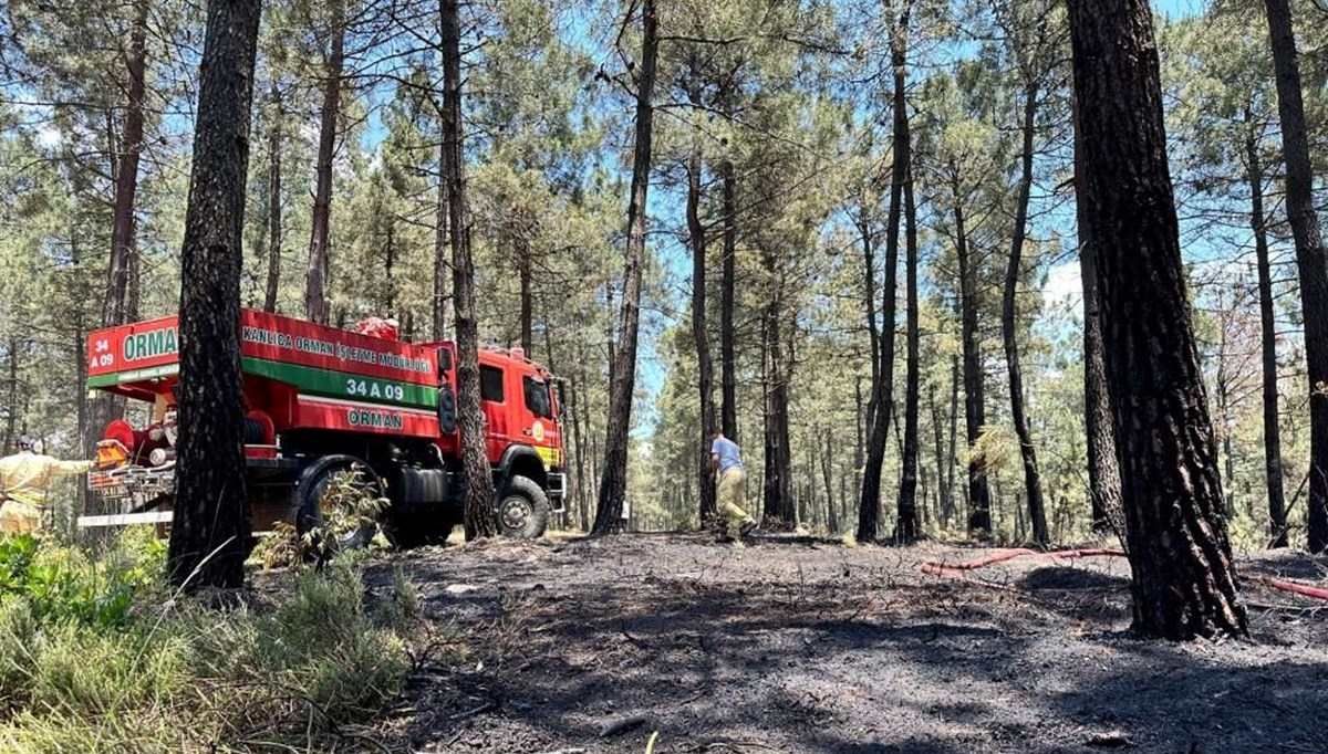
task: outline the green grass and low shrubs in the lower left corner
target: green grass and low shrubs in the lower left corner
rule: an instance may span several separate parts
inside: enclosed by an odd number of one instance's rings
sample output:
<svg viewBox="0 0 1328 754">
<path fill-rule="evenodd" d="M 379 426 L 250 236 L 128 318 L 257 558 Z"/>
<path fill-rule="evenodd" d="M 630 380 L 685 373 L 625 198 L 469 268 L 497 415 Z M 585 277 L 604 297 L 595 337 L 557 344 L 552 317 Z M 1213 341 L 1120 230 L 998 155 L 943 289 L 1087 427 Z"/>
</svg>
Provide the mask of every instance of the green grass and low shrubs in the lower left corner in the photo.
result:
<svg viewBox="0 0 1328 754">
<path fill-rule="evenodd" d="M 141 538 L 94 560 L 0 539 L 0 751 L 321 751 L 400 694 L 405 575 L 372 613 L 344 563 L 215 611 L 166 599 L 162 568 Z"/>
</svg>

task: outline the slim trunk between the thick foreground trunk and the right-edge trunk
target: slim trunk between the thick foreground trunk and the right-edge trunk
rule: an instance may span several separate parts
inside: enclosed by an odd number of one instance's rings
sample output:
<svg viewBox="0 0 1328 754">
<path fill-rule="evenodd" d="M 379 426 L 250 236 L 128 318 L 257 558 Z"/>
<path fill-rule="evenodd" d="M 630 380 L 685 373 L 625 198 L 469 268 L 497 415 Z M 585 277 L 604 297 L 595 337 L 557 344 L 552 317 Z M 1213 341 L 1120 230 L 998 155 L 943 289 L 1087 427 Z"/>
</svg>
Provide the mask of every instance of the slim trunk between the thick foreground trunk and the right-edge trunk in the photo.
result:
<svg viewBox="0 0 1328 754">
<path fill-rule="evenodd" d="M 1259 324 L 1263 350 L 1263 462 L 1268 486 L 1272 547 L 1287 547 L 1287 498 L 1282 482 L 1282 425 L 1278 414 L 1278 332 L 1268 262 L 1268 226 L 1263 211 L 1263 161 L 1252 113 L 1246 108 L 1246 163 L 1250 179 L 1250 227 L 1259 267 Z"/>
</svg>

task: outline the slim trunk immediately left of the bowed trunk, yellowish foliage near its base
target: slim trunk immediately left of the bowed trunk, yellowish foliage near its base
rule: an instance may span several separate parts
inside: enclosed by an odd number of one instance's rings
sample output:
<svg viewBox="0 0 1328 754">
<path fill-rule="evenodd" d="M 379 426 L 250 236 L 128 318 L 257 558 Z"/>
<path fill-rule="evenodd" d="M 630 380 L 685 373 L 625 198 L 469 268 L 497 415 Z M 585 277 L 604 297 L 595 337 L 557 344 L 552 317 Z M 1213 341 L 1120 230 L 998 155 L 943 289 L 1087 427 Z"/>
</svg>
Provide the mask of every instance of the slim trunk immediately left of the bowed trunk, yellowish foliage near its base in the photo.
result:
<svg viewBox="0 0 1328 754">
<path fill-rule="evenodd" d="M 955 199 L 955 239 L 959 255 L 960 324 L 964 349 L 964 426 L 968 438 L 968 534 L 979 539 L 991 536 L 992 502 L 987 486 L 987 469 L 972 454 L 987 425 L 987 402 L 983 397 L 983 360 L 977 342 L 977 271 L 968 248 L 964 228 L 964 206 L 959 173 L 951 166 L 951 188 Z"/>
</svg>

